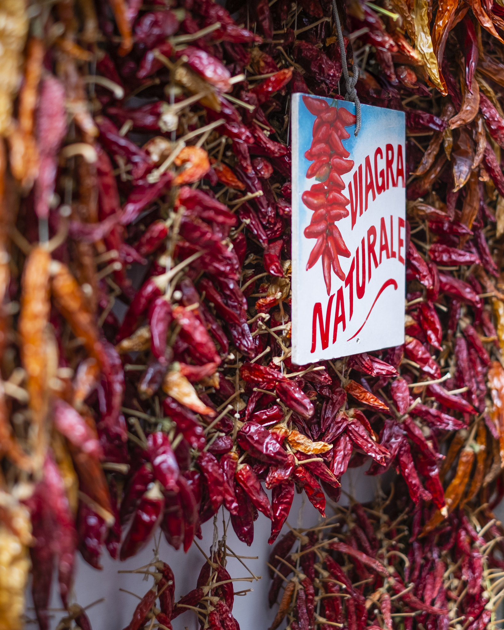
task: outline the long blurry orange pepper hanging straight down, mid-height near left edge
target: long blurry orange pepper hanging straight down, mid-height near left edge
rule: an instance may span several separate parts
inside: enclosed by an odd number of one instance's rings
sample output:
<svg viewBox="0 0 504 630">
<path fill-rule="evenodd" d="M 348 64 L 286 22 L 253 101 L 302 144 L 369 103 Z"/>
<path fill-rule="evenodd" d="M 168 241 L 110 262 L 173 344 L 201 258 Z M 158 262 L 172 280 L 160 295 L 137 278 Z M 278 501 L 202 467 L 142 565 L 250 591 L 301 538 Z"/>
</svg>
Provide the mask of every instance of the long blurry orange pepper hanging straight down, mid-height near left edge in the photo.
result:
<svg viewBox="0 0 504 630">
<path fill-rule="evenodd" d="M 31 419 L 35 427 L 33 444 L 37 459 L 45 450 L 42 425 L 47 413 L 46 340 L 45 327 L 49 322 L 49 269 L 51 257 L 46 249 L 37 246 L 26 258 L 21 278 L 21 307 L 18 330 L 21 337 L 21 362 L 26 370 L 26 389 L 30 396 Z"/>
</svg>

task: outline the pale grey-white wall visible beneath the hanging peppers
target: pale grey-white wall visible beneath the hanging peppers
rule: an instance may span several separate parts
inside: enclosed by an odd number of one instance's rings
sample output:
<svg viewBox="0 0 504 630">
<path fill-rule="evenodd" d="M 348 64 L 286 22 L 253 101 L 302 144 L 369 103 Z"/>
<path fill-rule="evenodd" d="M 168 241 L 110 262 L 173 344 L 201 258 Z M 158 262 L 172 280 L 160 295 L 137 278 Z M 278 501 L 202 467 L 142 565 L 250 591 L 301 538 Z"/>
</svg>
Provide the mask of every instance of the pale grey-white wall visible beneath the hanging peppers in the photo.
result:
<svg viewBox="0 0 504 630">
<path fill-rule="evenodd" d="M 350 469 L 350 471 L 343 476 L 343 490 L 355 496 L 357 500 L 370 501 L 375 495 L 377 479 L 379 478 L 364 476 L 364 469 Z M 268 495 L 270 495 L 270 493 L 268 493 Z M 302 505 L 303 503 L 304 505 Z M 342 495 L 341 504 L 345 505 L 346 503 L 348 503 L 348 501 L 345 495 Z M 301 522 L 299 522 L 300 513 Z M 222 512 L 219 512 L 219 537 L 222 536 L 221 514 Z M 329 517 L 332 515 L 333 510 L 328 502 L 326 506 L 326 516 Z M 307 500 L 306 495 L 302 493 L 302 495 L 295 494 L 288 520 L 293 527 L 309 527 L 310 525 L 316 525 L 321 518 L 317 510 L 312 507 L 311 503 Z M 287 526 L 285 526 L 280 536 L 282 536 L 287 529 Z M 212 519 L 203 524 L 202 533 L 203 540 L 197 542 L 205 553 L 208 554 L 214 536 Z M 262 579 L 258 582 L 238 582 L 234 585 L 235 591 L 253 588 L 253 592 L 247 593 L 242 597 L 235 597 L 234 599 L 233 614 L 236 619 L 238 619 L 241 630 L 266 630 L 271 625 L 273 617 L 275 616 L 277 607 L 274 606 L 273 609 L 268 607 L 268 590 L 271 580 L 268 576 L 265 562 L 271 551 L 271 547 L 268 545 L 269 536 L 270 521 L 261 513 L 254 524 L 254 541 L 251 547 L 247 547 L 246 544 L 237 539 L 231 525 L 227 530 L 227 544 L 234 553 L 239 556 L 259 556 L 257 560 L 244 560 L 244 562 L 255 575 L 262 575 Z M 105 601 L 96 604 L 88 610 L 88 616 L 93 630 L 122 630 L 122 628 L 125 628 L 129 624 L 139 600 L 119 589 L 124 588 L 125 590 L 137 593 L 137 595 L 141 597 L 151 588 L 152 578 L 149 578 L 149 581 L 143 581 L 142 575 L 117 573 L 117 571 L 132 570 L 150 562 L 153 557 L 153 546 L 154 541 L 152 540 L 142 553 L 125 562 L 112 560 L 105 549 L 101 561 L 103 571 L 93 569 L 89 564 L 83 561 L 80 554 L 77 554 L 74 597 L 72 601 L 86 607 L 88 604 L 91 604 L 91 602 L 95 602 L 102 597 L 105 598 Z M 183 549 L 175 551 L 175 549 L 166 543 L 164 536 L 161 536 L 159 559 L 167 562 L 175 573 L 175 600 L 180 599 L 180 597 L 196 587 L 196 580 L 205 562 L 205 559 L 196 546 L 193 545 L 188 553 L 185 554 Z M 247 571 L 238 560 L 232 558 L 232 556 L 227 556 L 227 559 L 227 570 L 232 578 L 248 576 Z M 33 603 L 31 602 L 31 592 L 27 593 L 26 606 L 26 616 L 34 620 L 35 612 L 33 610 Z M 55 581 L 53 584 L 51 607 L 61 610 L 57 583 Z M 64 616 L 64 612 L 53 610 L 50 614 L 52 616 L 50 627 L 51 630 L 53 630 Z M 37 627 L 36 622 L 35 624 L 28 624 L 27 627 Z M 185 628 L 188 630 L 199 629 L 197 617 L 190 610 L 177 617 L 173 622 L 173 630 L 184 630 Z"/>
</svg>

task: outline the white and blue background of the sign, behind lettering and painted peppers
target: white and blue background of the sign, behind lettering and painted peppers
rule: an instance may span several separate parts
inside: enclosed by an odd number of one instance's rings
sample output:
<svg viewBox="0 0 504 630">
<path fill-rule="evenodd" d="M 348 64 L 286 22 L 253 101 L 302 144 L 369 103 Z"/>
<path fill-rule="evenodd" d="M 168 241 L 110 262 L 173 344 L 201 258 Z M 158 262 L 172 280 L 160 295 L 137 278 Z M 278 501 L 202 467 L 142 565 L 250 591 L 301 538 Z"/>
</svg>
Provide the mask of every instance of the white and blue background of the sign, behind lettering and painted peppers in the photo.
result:
<svg viewBox="0 0 504 630">
<path fill-rule="evenodd" d="M 328 103 L 332 100 L 328 99 Z M 345 101 L 336 101 L 341 107 L 344 105 L 350 112 L 355 112 L 355 105 Z M 305 238 L 303 231 L 309 225 L 312 210 L 308 209 L 301 200 L 302 192 L 310 190 L 317 183 L 314 178 L 307 179 L 306 171 L 311 161 L 304 157 L 305 151 L 310 148 L 312 142 L 312 127 L 315 116 L 308 112 L 302 102 L 302 95 L 292 95 L 292 360 L 299 365 L 310 363 L 323 358 L 337 358 L 368 350 L 379 350 L 404 343 L 404 265 L 398 258 L 389 258 L 382 255 L 382 263 L 377 269 L 372 263 L 372 273 L 369 282 L 369 265 L 367 264 L 367 231 L 374 226 L 377 231 L 375 253 L 379 258 L 380 249 L 380 218 L 385 217 L 385 226 L 389 248 L 391 246 L 391 215 L 393 225 L 393 249 L 398 253 L 398 219 L 405 217 L 405 188 L 399 180 L 399 186 L 389 184 L 388 190 L 376 195 L 372 200 L 369 193 L 368 209 L 362 216 L 357 213 L 357 221 L 352 230 L 352 217 L 349 215 L 336 223 L 347 248 L 350 249 L 350 258 L 340 256 L 341 268 L 348 274 L 355 251 L 359 250 L 362 256 L 361 241 L 365 237 L 365 263 L 366 284 L 362 299 L 357 299 L 355 289 L 355 271 L 353 272 L 353 315 L 350 319 L 349 287 L 341 282 L 334 272 L 331 272 L 331 295 L 335 294 L 332 303 L 331 324 L 329 327 L 329 345 L 322 350 L 317 324 L 316 352 L 311 353 L 312 347 L 312 320 L 314 304 L 321 302 L 324 322 L 326 319 L 326 307 L 329 297 L 324 284 L 322 272 L 322 260 L 314 265 L 308 272 L 306 263 L 310 252 L 316 243 L 315 239 Z M 350 151 L 354 166 L 349 173 L 342 175 L 346 188 L 343 190 L 345 197 L 350 198 L 348 183 L 352 181 L 353 173 L 362 164 L 363 188 L 365 181 L 365 157 L 369 155 L 370 165 L 374 178 L 374 153 L 376 147 L 381 147 L 383 159 L 378 159 L 377 171 L 386 166 L 386 144 L 394 147 L 394 176 L 396 173 L 396 156 L 398 144 L 403 146 L 403 166 L 405 166 L 406 151 L 404 149 L 404 113 L 384 108 L 362 105 L 362 127 L 357 139 L 353 135 L 355 126 L 347 127 L 350 138 L 343 141 L 343 146 Z M 297 175 L 296 175 L 297 174 Z M 376 182 L 375 182 L 376 186 Z M 350 212 L 350 205 L 348 205 Z M 405 239 L 404 228 L 401 230 L 401 238 Z M 404 245 L 401 248 L 401 256 L 406 258 Z M 371 258 L 372 260 L 372 258 Z M 362 266 L 360 266 L 362 277 Z M 387 287 L 377 299 L 375 306 L 360 333 L 352 340 L 350 337 L 364 323 L 370 308 L 380 288 L 389 278 L 394 278 L 398 284 L 397 290 L 391 285 Z M 342 330 L 342 324 L 338 326 L 336 343 L 333 345 L 333 328 L 336 311 L 336 295 L 340 287 L 343 287 L 345 299 L 346 329 Z"/>
</svg>

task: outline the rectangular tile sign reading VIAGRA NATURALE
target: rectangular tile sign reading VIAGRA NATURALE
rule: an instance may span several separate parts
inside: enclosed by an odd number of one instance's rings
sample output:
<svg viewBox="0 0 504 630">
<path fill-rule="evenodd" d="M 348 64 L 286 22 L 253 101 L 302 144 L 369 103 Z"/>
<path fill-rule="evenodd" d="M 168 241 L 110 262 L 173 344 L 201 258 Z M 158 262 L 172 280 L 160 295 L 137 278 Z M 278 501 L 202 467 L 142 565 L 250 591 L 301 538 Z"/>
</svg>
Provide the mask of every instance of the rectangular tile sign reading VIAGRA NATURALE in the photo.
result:
<svg viewBox="0 0 504 630">
<path fill-rule="evenodd" d="M 292 360 L 404 343 L 404 113 L 292 95 Z"/>
</svg>

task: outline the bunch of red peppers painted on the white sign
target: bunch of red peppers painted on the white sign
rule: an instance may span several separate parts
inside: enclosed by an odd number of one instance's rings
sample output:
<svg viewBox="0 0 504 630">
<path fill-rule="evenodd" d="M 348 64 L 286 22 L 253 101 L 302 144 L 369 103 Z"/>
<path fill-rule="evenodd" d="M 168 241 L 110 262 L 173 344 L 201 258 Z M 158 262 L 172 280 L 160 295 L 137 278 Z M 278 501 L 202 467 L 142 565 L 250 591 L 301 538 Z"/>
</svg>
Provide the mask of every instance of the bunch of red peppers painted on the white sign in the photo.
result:
<svg viewBox="0 0 504 630">
<path fill-rule="evenodd" d="M 327 294 L 331 293 L 331 266 L 340 280 L 345 280 L 338 255 L 350 256 L 336 221 L 348 217 L 347 205 L 350 201 L 343 195 L 345 182 L 341 175 L 353 168 L 353 160 L 347 159 L 350 153 L 343 147 L 342 140 L 350 134 L 345 129 L 355 125 L 355 115 L 344 107 L 329 107 L 327 101 L 303 96 L 308 111 L 316 116 L 313 123 L 313 140 L 304 156 L 314 160 L 306 171 L 307 178 L 315 177 L 319 182 L 302 194 L 304 205 L 314 210 L 309 226 L 304 229 L 306 238 L 316 238 L 306 270 L 316 264 L 322 256 L 322 268 Z"/>
</svg>

